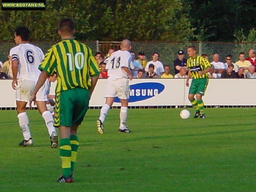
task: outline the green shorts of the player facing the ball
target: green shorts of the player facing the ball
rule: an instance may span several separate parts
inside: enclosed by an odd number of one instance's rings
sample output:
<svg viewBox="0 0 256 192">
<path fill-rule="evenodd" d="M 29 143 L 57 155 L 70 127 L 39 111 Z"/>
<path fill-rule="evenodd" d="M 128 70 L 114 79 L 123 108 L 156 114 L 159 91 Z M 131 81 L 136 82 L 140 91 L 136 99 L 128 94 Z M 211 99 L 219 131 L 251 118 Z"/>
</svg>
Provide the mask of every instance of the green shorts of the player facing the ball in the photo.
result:
<svg viewBox="0 0 256 192">
<path fill-rule="evenodd" d="M 208 78 L 192 79 L 188 94 L 204 95 L 208 85 L 208 80 Z"/>
</svg>

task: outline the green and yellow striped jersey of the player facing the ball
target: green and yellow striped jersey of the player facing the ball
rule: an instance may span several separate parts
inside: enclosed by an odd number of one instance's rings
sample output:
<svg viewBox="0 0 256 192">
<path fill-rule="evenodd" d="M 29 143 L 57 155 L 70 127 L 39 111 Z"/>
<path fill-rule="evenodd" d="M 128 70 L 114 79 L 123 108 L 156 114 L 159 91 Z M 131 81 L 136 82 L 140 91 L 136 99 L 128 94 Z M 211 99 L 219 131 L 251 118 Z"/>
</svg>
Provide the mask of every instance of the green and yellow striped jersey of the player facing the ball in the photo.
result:
<svg viewBox="0 0 256 192">
<path fill-rule="evenodd" d="M 190 57 L 187 60 L 187 68 L 190 70 L 191 76 L 194 79 L 208 78 L 208 73 L 199 76 L 198 72 L 204 71 L 210 66 L 210 62 L 199 55 L 197 55 L 195 58 Z"/>
</svg>

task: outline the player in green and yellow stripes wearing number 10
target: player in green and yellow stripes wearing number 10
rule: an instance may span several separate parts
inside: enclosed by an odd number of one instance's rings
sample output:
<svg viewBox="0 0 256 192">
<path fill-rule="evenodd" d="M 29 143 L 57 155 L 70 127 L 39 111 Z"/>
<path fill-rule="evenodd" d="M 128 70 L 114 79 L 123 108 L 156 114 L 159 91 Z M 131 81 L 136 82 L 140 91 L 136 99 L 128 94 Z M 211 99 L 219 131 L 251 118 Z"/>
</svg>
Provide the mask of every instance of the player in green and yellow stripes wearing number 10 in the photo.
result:
<svg viewBox="0 0 256 192">
<path fill-rule="evenodd" d="M 31 105 L 46 78 L 54 72 L 57 73 L 54 126 L 60 131 L 59 146 L 63 172 L 57 182 L 68 183 L 73 180 L 79 146 L 77 129 L 88 110 L 90 96 L 100 74 L 92 50 L 74 40 L 74 33 L 74 21 L 71 18 L 61 19 L 58 34 L 62 41 L 46 53 L 39 66 L 41 74 L 30 98 Z"/>
</svg>

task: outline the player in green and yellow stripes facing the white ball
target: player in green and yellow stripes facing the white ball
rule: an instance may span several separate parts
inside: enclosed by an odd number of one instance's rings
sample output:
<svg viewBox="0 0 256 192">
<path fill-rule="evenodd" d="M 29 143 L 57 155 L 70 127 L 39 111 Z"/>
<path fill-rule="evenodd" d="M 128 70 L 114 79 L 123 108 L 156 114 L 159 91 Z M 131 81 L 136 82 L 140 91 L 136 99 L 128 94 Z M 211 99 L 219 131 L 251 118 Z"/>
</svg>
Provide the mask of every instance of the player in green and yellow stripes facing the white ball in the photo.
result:
<svg viewBox="0 0 256 192">
<path fill-rule="evenodd" d="M 196 108 L 194 118 L 205 118 L 204 102 L 202 96 L 206 91 L 208 84 L 208 72 L 212 69 L 208 60 L 196 54 L 196 47 L 188 46 L 187 68 L 189 69 L 186 86 L 189 86 L 188 80 L 192 77 L 192 82 L 188 92 L 188 99 Z M 196 95 L 196 99 L 194 96 Z"/>
</svg>

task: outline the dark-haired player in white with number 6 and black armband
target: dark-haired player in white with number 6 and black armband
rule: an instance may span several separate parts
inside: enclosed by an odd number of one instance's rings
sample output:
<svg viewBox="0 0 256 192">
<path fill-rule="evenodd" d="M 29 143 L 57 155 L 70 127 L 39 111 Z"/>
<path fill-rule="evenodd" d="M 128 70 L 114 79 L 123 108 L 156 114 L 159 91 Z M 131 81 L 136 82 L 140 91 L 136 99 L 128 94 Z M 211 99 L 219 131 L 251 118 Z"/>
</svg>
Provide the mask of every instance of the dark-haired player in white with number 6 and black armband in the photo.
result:
<svg viewBox="0 0 256 192">
<path fill-rule="evenodd" d="M 44 53 L 40 48 L 28 43 L 29 33 L 27 27 L 17 27 L 14 31 L 14 40 L 17 46 L 10 50 L 13 72 L 12 88 L 16 90 L 18 120 L 24 137 L 22 142 L 19 143 L 20 146 L 33 144 L 26 105 L 40 75 L 38 66 L 44 58 Z M 44 84 L 36 95 L 36 105 L 48 128 L 51 147 L 56 148 L 58 146 L 58 136 L 53 126 L 52 114 L 46 108 L 46 101 L 46 85 Z"/>
</svg>

